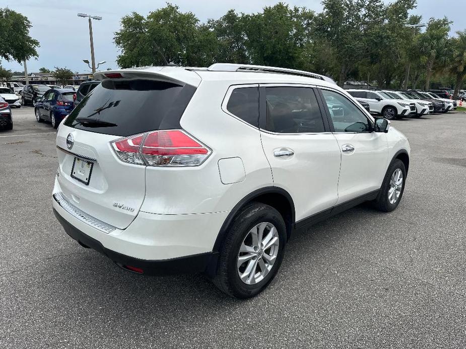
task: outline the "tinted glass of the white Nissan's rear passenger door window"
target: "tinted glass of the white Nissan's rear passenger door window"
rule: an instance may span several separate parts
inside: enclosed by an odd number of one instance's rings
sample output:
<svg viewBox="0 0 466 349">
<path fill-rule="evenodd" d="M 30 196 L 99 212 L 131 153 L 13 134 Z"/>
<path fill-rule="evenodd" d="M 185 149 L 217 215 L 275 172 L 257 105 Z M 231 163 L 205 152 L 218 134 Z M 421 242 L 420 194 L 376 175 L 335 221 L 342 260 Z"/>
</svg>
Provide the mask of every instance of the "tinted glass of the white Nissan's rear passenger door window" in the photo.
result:
<svg viewBox="0 0 466 349">
<path fill-rule="evenodd" d="M 265 89 L 266 128 L 278 133 L 324 132 L 320 109 L 311 88 Z"/>
</svg>

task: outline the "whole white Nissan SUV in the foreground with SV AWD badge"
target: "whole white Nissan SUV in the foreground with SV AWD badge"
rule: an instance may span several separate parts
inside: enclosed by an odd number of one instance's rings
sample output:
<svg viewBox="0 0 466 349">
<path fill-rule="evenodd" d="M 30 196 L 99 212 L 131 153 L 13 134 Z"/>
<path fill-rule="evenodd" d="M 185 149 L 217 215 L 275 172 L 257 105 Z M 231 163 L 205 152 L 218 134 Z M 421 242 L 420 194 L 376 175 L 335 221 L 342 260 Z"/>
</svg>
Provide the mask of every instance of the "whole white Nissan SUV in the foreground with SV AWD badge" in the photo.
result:
<svg viewBox="0 0 466 349">
<path fill-rule="evenodd" d="M 121 268 L 204 272 L 247 298 L 295 230 L 400 203 L 407 138 L 329 78 L 236 64 L 94 76 L 57 132 L 52 203 L 70 236 Z"/>
</svg>

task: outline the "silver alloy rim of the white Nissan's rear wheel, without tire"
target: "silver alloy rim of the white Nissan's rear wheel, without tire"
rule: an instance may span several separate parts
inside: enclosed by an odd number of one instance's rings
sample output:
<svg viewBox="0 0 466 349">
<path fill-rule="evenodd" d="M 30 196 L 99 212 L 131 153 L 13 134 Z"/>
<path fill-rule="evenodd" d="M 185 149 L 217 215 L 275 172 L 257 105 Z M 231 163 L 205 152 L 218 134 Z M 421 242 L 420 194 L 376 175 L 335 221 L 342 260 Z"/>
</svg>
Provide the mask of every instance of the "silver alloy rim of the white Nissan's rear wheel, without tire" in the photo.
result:
<svg viewBox="0 0 466 349">
<path fill-rule="evenodd" d="M 249 230 L 237 257 L 237 271 L 241 281 L 254 285 L 263 280 L 274 267 L 279 245 L 278 231 L 272 223 L 259 223 Z"/>
</svg>

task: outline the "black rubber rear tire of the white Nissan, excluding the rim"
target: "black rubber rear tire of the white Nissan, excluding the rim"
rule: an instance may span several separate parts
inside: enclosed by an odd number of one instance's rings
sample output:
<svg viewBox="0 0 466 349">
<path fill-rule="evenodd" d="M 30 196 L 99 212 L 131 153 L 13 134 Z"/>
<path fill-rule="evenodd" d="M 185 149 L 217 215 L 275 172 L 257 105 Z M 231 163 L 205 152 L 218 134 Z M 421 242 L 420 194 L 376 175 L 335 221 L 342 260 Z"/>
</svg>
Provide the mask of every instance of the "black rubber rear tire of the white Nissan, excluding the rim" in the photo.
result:
<svg viewBox="0 0 466 349">
<path fill-rule="evenodd" d="M 253 285 L 244 283 L 238 275 L 237 258 L 240 246 L 249 231 L 257 224 L 272 223 L 278 232 L 279 250 L 270 272 Z M 273 280 L 283 260 L 286 246 L 286 226 L 283 217 L 273 207 L 262 203 L 251 203 L 235 216 L 220 249 L 217 275 L 212 280 L 226 294 L 237 298 L 250 298 L 260 293 Z M 260 257 L 259 257 L 260 258 Z"/>
</svg>

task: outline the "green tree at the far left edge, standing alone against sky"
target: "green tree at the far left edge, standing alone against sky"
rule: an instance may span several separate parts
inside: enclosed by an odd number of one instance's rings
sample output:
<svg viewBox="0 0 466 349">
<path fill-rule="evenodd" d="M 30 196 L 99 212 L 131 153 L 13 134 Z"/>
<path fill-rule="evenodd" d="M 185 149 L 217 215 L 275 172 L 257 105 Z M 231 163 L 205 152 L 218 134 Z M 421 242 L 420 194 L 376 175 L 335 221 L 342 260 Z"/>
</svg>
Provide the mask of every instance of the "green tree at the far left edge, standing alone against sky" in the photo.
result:
<svg viewBox="0 0 466 349">
<path fill-rule="evenodd" d="M 0 9 L 0 58 L 22 62 L 37 57 L 39 42 L 29 36 L 27 17 L 9 8 Z"/>
</svg>

